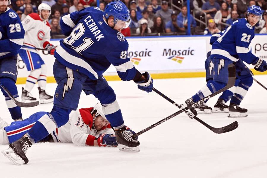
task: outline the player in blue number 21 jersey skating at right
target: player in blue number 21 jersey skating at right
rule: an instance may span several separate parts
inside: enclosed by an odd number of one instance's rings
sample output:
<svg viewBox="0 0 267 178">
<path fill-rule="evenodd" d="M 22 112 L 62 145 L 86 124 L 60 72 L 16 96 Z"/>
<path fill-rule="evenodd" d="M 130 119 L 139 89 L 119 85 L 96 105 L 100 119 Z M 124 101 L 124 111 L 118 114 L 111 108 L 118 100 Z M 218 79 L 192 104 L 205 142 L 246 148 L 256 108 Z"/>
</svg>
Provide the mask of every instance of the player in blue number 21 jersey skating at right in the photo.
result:
<svg viewBox="0 0 267 178">
<path fill-rule="evenodd" d="M 192 98 L 185 101 L 187 105 L 209 96 L 210 94 L 225 87 L 228 81 L 227 66 L 230 63 L 236 63 L 239 58 L 255 66 L 257 71 L 266 71 L 266 61 L 256 57 L 249 50 L 249 44 L 254 38 L 255 25 L 262 18 L 261 8 L 252 5 L 247 10 L 247 18 L 242 18 L 233 22 L 222 36 L 220 36 L 213 44 L 211 50 L 212 63 L 214 64 L 213 81 L 207 83 L 201 90 L 198 91 Z M 231 112 L 239 112 L 237 104 L 231 104 L 233 108 Z M 194 114 L 196 110 L 190 109 Z"/>
</svg>

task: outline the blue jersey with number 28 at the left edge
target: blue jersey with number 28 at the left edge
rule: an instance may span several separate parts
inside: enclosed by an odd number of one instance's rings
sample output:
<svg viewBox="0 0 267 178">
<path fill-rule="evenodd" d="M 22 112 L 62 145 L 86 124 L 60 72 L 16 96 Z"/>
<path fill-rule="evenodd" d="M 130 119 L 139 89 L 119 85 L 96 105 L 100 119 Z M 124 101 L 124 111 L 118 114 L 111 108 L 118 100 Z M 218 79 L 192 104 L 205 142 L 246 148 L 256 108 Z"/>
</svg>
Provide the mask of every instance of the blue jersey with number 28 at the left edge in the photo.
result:
<svg viewBox="0 0 267 178">
<path fill-rule="evenodd" d="M 15 11 L 0 13 L 0 59 L 18 54 L 22 47 L 25 31 Z"/>
</svg>

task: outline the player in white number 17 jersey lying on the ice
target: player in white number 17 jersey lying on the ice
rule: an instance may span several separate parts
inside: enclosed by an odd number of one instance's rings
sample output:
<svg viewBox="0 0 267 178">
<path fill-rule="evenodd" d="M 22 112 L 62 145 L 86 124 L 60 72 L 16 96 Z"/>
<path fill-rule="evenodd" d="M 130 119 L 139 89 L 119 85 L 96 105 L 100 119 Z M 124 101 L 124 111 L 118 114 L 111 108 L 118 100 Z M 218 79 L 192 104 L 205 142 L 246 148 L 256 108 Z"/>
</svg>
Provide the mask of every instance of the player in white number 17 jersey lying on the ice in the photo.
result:
<svg viewBox="0 0 267 178">
<path fill-rule="evenodd" d="M 36 112 L 29 118 L 12 122 L 10 125 L 0 118 L 0 144 L 9 144 L 20 139 L 43 115 L 49 112 Z M 71 113 L 69 121 L 57 128 L 41 141 L 73 143 L 77 146 L 109 146 L 116 147 L 118 144 L 115 132 L 110 126 L 98 103 L 91 108 L 82 108 Z M 3 152 L 10 155 L 12 150 Z"/>
</svg>

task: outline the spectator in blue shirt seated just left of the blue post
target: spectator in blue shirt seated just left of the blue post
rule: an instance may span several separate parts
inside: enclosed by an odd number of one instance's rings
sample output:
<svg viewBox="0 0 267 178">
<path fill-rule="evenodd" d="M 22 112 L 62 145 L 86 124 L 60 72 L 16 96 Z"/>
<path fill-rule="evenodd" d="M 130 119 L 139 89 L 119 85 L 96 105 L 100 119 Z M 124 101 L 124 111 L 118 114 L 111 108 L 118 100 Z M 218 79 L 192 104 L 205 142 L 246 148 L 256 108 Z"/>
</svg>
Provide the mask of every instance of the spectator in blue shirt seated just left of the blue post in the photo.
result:
<svg viewBox="0 0 267 178">
<path fill-rule="evenodd" d="M 177 12 L 172 11 L 171 20 L 166 23 L 166 33 L 169 32 L 185 32 L 183 23 L 177 20 Z"/>
</svg>

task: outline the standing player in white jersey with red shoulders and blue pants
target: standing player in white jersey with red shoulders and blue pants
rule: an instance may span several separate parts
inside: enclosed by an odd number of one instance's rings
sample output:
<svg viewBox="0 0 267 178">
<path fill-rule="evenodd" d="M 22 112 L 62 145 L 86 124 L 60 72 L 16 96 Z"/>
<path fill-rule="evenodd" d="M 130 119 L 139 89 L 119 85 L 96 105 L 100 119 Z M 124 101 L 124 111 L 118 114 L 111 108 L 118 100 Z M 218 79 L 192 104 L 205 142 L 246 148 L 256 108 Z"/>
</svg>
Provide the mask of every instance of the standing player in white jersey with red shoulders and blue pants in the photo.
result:
<svg viewBox="0 0 267 178">
<path fill-rule="evenodd" d="M 25 29 L 23 48 L 20 57 L 26 64 L 27 70 L 31 71 L 26 80 L 25 88 L 22 90 L 21 100 L 23 102 L 35 101 L 31 90 L 35 83 L 38 84 L 40 103 L 53 102 L 53 96 L 45 92 L 47 67 L 35 48 L 44 48 L 48 53 L 54 55 L 55 47 L 50 44 L 50 24 L 47 19 L 51 14 L 51 7 L 45 3 L 38 6 L 38 14 L 31 13 L 22 21 Z"/>
</svg>

